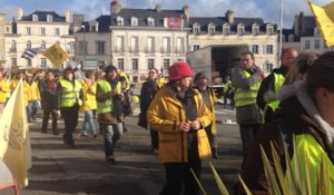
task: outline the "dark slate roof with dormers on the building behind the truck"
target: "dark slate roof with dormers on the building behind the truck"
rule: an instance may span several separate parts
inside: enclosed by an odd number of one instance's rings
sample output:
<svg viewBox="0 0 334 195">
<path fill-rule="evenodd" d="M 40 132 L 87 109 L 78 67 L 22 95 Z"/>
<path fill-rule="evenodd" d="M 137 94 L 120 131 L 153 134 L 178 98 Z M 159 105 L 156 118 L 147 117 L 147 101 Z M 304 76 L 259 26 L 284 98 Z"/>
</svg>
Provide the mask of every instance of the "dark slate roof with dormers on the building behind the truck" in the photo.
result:
<svg viewBox="0 0 334 195">
<path fill-rule="evenodd" d="M 193 28 L 194 23 L 198 23 L 200 26 L 200 32 L 206 33 L 208 30 L 208 25 L 214 23 L 216 27 L 216 31 L 223 31 L 223 26 L 227 23 L 229 26 L 230 31 L 237 31 L 237 26 L 243 25 L 245 27 L 245 31 L 250 32 L 252 26 L 257 23 L 259 27 L 259 31 L 266 31 L 266 26 L 268 25 L 261 18 L 234 18 L 233 23 L 228 23 L 228 19 L 226 17 L 190 17 L 189 28 Z M 276 26 L 274 26 L 274 29 Z"/>
</svg>

